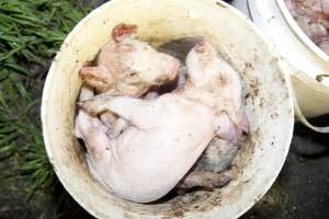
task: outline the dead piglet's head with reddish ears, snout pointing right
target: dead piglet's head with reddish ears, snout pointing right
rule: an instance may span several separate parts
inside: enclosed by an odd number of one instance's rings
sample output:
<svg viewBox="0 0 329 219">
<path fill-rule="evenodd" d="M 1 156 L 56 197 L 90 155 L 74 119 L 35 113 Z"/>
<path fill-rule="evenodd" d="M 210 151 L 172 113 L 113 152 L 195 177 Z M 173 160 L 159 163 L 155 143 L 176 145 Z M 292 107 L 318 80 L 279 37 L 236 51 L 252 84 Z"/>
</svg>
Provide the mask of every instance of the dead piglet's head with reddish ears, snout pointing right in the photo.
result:
<svg viewBox="0 0 329 219">
<path fill-rule="evenodd" d="M 118 24 L 100 51 L 95 67 L 83 67 L 80 77 L 98 92 L 139 97 L 152 85 L 177 78 L 180 61 L 135 38 L 135 25 Z M 120 35 L 118 35 L 120 34 Z"/>
</svg>

